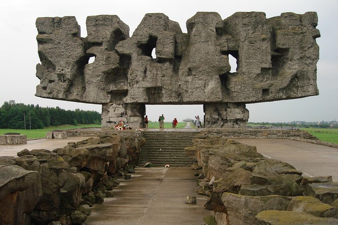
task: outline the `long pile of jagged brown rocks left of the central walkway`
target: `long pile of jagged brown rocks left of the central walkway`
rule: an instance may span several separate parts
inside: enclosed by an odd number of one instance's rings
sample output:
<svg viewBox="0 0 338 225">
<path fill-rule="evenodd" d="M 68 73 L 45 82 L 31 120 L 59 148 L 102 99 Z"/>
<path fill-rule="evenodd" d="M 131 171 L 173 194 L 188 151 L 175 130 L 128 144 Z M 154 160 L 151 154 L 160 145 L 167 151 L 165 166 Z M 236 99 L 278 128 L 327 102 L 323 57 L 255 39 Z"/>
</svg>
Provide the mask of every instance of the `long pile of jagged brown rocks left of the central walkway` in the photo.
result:
<svg viewBox="0 0 338 225">
<path fill-rule="evenodd" d="M 101 133 L 64 148 L 0 157 L 0 224 L 81 224 L 135 173 L 142 137 Z"/>
</svg>

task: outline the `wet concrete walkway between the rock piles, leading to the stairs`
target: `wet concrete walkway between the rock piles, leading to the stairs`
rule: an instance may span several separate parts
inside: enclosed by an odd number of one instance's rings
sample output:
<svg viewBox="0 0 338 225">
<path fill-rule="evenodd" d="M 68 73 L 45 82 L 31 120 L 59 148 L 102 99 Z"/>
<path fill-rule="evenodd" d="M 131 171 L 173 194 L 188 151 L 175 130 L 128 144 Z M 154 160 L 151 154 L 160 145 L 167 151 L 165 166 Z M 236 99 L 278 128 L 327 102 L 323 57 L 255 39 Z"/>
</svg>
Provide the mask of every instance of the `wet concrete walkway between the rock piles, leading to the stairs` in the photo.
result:
<svg viewBox="0 0 338 225">
<path fill-rule="evenodd" d="M 204 224 L 212 211 L 203 208 L 206 196 L 198 195 L 196 177 L 190 168 L 136 168 L 131 180 L 121 180 L 114 197 L 95 204 L 85 225 Z M 196 196 L 197 204 L 186 204 Z"/>
</svg>

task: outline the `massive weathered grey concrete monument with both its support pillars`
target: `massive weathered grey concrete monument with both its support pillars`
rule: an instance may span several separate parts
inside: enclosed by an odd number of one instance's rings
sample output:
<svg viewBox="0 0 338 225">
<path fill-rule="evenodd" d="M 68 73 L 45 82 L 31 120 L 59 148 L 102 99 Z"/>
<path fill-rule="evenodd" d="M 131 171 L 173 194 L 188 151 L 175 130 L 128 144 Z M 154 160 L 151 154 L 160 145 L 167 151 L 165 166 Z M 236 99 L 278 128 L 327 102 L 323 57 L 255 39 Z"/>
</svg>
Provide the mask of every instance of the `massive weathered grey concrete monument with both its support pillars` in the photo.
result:
<svg viewBox="0 0 338 225">
<path fill-rule="evenodd" d="M 75 17 L 37 18 L 36 96 L 102 104 L 103 128 L 120 119 L 143 127 L 146 104 L 203 104 L 206 127 L 244 127 L 246 103 L 318 95 L 315 12 L 225 20 L 200 12 L 187 33 L 164 14 L 146 14 L 131 37 L 117 16 L 90 16 L 86 26 L 81 38 Z"/>
</svg>

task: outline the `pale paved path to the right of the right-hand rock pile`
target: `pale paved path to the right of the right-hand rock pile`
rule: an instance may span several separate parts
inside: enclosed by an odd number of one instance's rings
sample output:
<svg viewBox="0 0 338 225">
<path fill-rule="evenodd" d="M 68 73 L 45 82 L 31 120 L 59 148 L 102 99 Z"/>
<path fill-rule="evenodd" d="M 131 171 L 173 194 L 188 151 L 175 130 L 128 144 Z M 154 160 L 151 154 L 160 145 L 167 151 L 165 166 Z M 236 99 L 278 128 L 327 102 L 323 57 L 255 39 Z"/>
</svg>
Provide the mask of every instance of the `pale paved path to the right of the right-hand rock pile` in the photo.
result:
<svg viewBox="0 0 338 225">
<path fill-rule="evenodd" d="M 288 162 L 312 177 L 332 176 L 338 181 L 338 148 L 288 139 L 236 138 L 238 142 L 255 145 L 267 157 Z"/>
</svg>

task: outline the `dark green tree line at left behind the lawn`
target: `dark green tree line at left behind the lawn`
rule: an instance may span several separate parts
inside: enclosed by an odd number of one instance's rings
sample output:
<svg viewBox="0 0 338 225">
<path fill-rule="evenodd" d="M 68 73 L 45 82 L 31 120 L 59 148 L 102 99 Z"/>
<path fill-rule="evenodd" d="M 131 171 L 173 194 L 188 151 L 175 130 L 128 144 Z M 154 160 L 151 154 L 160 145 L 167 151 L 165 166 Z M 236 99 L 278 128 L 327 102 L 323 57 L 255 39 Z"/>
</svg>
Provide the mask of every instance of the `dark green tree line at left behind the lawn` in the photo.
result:
<svg viewBox="0 0 338 225">
<path fill-rule="evenodd" d="M 40 107 L 38 104 L 5 101 L 0 108 L 0 129 L 43 129 L 66 124 L 101 124 L 97 111 L 65 110 L 57 107 Z"/>
</svg>

